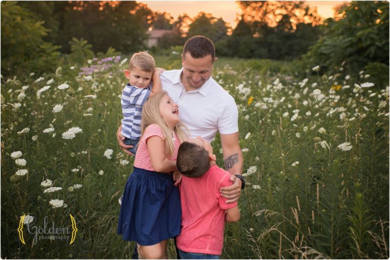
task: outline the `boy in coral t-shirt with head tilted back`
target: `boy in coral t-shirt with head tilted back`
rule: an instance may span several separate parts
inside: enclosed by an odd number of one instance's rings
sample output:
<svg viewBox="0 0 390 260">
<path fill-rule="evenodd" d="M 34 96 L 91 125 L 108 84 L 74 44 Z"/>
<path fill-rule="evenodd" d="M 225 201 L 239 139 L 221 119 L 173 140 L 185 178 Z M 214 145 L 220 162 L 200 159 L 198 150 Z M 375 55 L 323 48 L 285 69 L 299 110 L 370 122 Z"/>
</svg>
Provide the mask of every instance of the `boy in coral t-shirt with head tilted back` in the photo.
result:
<svg viewBox="0 0 390 260">
<path fill-rule="evenodd" d="M 226 203 L 219 192 L 231 174 L 215 163 L 211 144 L 198 136 L 180 144 L 176 165 L 182 207 L 177 248 L 181 259 L 219 259 L 226 222 L 240 219 L 237 202 Z"/>
</svg>

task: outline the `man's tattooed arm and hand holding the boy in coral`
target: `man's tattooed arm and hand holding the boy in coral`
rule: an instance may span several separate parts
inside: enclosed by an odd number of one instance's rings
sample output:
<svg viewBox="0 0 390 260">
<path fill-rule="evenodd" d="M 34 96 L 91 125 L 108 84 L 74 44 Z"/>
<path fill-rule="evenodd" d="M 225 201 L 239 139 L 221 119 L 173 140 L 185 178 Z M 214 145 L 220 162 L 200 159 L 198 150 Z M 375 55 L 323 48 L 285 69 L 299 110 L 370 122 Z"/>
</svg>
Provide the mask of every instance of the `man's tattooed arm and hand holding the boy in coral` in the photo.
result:
<svg viewBox="0 0 390 260">
<path fill-rule="evenodd" d="M 237 201 L 241 196 L 241 180 L 236 174 L 242 174 L 244 159 L 239 143 L 239 132 L 234 134 L 220 134 L 223 151 L 223 158 L 226 171 L 229 171 L 231 180 L 234 183 L 229 187 L 222 187 L 220 192 L 222 197 L 229 199 L 226 202 L 232 203 Z"/>
</svg>

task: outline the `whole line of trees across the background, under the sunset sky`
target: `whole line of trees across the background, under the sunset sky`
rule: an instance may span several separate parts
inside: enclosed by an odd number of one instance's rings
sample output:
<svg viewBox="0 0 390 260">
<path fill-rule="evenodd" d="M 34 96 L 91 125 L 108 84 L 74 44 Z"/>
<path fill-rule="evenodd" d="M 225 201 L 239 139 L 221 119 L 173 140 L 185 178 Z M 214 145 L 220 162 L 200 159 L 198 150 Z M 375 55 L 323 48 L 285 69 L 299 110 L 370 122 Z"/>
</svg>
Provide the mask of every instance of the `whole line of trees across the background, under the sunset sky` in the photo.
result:
<svg viewBox="0 0 390 260">
<path fill-rule="evenodd" d="M 321 64 L 323 70 L 335 70 L 343 61 L 351 70 L 388 70 L 386 1 L 352 1 L 323 23 L 303 1 L 237 4 L 241 14 L 232 28 L 212 14 L 191 18 L 184 13 L 174 19 L 135 1 L 2 2 L 2 74 L 14 74 L 20 67 L 45 71 L 63 54 L 83 62 L 94 53 L 145 50 L 150 29 L 171 32 L 158 40 L 153 52 L 182 46 L 202 34 L 215 43 L 218 56 L 293 60 L 306 54 L 305 62 Z"/>
</svg>

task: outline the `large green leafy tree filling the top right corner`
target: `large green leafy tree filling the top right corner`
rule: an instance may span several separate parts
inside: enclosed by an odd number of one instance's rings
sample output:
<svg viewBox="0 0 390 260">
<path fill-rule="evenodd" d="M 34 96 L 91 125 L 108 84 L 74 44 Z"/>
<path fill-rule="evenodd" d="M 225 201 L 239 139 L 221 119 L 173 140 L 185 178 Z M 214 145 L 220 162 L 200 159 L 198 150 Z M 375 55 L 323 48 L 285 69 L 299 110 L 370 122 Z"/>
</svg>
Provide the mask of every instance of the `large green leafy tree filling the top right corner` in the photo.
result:
<svg viewBox="0 0 390 260">
<path fill-rule="evenodd" d="M 357 76 L 367 69 L 377 86 L 388 84 L 388 9 L 384 1 L 351 2 L 340 10 L 341 17 L 326 20 L 324 36 L 305 55 L 305 63 L 333 73 L 344 62 L 345 73 Z"/>
</svg>

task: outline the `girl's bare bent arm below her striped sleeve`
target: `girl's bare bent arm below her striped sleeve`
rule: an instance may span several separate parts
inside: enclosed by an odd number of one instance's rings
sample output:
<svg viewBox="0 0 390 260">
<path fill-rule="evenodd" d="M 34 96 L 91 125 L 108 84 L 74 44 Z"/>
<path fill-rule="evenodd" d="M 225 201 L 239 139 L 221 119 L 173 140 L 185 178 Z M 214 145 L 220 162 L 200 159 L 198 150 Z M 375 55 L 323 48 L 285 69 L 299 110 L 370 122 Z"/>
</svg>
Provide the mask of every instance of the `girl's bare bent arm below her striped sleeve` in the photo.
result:
<svg viewBox="0 0 390 260">
<path fill-rule="evenodd" d="M 164 140 L 153 135 L 146 139 L 146 145 L 150 155 L 150 161 L 155 171 L 171 172 L 176 170 L 176 161 L 165 158 Z"/>
</svg>

